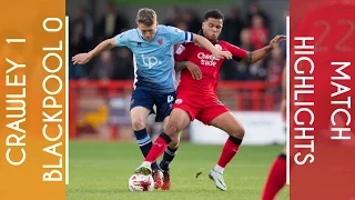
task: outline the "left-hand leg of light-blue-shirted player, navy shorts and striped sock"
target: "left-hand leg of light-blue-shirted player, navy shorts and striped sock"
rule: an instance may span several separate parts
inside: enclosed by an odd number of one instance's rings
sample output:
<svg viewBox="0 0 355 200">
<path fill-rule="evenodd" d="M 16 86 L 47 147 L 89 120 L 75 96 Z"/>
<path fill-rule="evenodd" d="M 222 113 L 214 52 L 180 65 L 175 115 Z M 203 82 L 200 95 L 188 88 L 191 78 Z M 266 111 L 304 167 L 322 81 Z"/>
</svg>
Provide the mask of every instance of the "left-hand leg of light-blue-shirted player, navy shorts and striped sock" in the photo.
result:
<svg viewBox="0 0 355 200">
<path fill-rule="evenodd" d="M 146 90 L 143 89 L 135 89 L 132 93 L 131 99 L 131 121 L 132 128 L 134 131 L 134 136 L 136 142 L 142 151 L 144 158 L 148 156 L 149 151 L 151 150 L 153 143 L 152 139 L 146 132 L 146 117 L 151 112 L 154 103 L 154 97 Z M 152 169 L 159 169 L 156 162 L 152 163 Z"/>
</svg>

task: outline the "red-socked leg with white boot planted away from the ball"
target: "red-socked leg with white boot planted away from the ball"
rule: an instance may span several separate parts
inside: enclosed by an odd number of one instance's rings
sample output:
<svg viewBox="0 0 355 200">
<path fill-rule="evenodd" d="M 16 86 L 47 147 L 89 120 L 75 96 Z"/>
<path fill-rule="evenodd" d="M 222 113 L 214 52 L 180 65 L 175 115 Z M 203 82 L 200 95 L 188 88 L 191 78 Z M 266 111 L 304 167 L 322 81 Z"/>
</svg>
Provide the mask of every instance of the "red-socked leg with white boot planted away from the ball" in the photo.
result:
<svg viewBox="0 0 355 200">
<path fill-rule="evenodd" d="M 201 114 L 203 114 L 202 120 L 205 123 L 214 126 L 230 134 L 216 166 L 209 173 L 209 177 L 215 182 L 216 187 L 225 191 L 226 184 L 223 179 L 223 171 L 240 149 L 244 138 L 244 128 L 224 106 L 204 109 L 204 112 Z"/>
</svg>

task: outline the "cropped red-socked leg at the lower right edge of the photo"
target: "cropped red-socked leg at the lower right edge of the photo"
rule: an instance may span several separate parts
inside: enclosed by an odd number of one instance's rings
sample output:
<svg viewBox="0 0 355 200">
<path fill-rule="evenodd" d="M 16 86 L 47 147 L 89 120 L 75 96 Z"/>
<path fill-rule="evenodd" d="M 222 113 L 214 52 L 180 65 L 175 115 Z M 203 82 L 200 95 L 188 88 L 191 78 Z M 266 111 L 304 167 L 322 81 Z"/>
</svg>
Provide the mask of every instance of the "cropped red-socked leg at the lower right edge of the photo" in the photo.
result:
<svg viewBox="0 0 355 200">
<path fill-rule="evenodd" d="M 278 191 L 286 183 L 286 149 L 273 162 L 266 183 L 264 186 L 262 200 L 275 199 Z"/>
</svg>

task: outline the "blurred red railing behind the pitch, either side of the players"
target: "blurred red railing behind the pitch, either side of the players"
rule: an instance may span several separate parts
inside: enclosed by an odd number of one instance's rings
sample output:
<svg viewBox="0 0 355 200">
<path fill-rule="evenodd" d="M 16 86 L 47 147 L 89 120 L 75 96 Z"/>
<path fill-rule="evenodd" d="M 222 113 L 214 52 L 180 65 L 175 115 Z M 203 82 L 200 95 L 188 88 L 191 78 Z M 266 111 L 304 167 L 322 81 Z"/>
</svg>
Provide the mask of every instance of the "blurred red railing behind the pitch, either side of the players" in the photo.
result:
<svg viewBox="0 0 355 200">
<path fill-rule="evenodd" d="M 85 113 L 84 110 L 98 110 L 91 102 L 81 103 L 83 100 L 93 100 L 100 98 L 105 111 L 102 112 L 103 121 L 109 123 L 110 138 L 116 139 L 119 136 L 119 126 L 122 121 L 129 124 L 129 104 L 130 94 L 133 90 L 133 81 L 88 81 L 71 80 L 69 84 L 69 131 L 70 138 L 78 138 L 78 124 L 80 118 Z M 280 104 L 280 83 L 268 83 L 265 81 L 220 81 L 216 92 L 220 100 L 233 111 L 275 111 Z M 126 103 L 121 103 L 121 111 L 112 109 L 110 99 L 120 98 Z M 118 101 L 114 101 L 118 102 Z M 82 108 L 85 104 L 85 108 Z M 98 103 L 100 104 L 100 103 Z M 99 107 L 99 106 L 97 106 Z M 122 109 L 125 111 L 122 111 Z M 109 111 L 108 111 L 109 110 Z M 112 111 L 113 110 L 113 111 Z M 113 121 L 108 122 L 112 116 L 120 116 Z M 98 116 L 98 114 L 97 114 Z M 100 114 L 99 114 L 100 116 Z M 104 117 L 104 116 L 111 116 Z M 108 120 L 109 119 L 109 120 Z M 97 119 L 94 119 L 97 120 Z M 99 121 L 99 119 L 98 119 Z M 102 120 L 101 120 L 102 121 Z"/>
</svg>

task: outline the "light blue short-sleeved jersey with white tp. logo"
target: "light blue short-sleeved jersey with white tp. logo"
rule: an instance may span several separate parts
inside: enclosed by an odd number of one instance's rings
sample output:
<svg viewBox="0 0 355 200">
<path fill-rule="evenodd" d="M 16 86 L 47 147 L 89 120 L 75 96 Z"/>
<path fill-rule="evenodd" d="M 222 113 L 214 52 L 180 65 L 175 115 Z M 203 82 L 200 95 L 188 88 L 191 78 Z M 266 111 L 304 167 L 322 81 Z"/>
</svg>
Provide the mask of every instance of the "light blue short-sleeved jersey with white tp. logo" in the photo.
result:
<svg viewBox="0 0 355 200">
<path fill-rule="evenodd" d="M 174 44 L 192 41 L 191 32 L 166 26 L 158 26 L 151 41 L 145 41 L 138 28 L 115 37 L 118 47 L 128 47 L 133 52 L 134 87 L 164 93 L 176 89 Z"/>
</svg>

